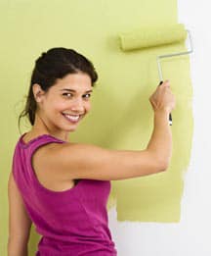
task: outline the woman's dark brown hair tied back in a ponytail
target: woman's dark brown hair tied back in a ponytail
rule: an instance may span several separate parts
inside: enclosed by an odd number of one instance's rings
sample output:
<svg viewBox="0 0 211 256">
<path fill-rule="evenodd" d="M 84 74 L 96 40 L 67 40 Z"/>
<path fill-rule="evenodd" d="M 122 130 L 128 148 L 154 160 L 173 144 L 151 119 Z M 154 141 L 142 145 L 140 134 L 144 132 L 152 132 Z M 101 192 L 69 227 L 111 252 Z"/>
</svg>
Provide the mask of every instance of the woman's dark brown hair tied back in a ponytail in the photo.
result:
<svg viewBox="0 0 211 256">
<path fill-rule="evenodd" d="M 58 47 L 42 53 L 35 61 L 25 107 L 19 116 L 19 127 L 23 117 L 28 118 L 31 126 L 34 125 L 37 107 L 32 91 L 34 83 L 38 83 L 44 91 L 47 91 L 56 83 L 58 78 L 77 73 L 87 74 L 92 80 L 92 86 L 98 79 L 93 64 L 75 50 Z"/>
</svg>

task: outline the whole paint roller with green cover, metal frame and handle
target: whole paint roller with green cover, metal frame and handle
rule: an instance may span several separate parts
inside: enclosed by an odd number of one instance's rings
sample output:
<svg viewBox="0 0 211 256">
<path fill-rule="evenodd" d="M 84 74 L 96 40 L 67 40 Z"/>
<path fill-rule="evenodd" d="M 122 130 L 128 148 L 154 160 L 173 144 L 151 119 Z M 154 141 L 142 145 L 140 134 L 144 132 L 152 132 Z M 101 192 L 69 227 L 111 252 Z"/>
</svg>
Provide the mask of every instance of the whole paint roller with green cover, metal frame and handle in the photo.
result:
<svg viewBox="0 0 211 256">
<path fill-rule="evenodd" d="M 160 84 L 163 82 L 161 59 L 186 55 L 192 52 L 190 30 L 186 30 L 183 24 L 173 26 L 143 27 L 134 31 L 122 32 L 119 35 L 120 47 L 123 51 L 145 50 L 149 47 L 161 46 L 185 41 L 189 35 L 190 49 L 186 52 L 159 55 L 156 58 Z M 172 116 L 169 115 L 169 125 L 172 126 Z"/>
</svg>

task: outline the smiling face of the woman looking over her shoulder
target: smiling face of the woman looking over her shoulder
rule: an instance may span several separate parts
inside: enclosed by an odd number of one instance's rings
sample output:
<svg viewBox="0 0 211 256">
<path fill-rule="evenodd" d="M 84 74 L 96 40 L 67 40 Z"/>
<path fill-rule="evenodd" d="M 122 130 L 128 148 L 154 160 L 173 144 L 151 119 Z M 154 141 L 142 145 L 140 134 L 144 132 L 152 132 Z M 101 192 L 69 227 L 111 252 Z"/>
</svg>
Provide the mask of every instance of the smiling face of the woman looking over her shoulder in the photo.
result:
<svg viewBox="0 0 211 256">
<path fill-rule="evenodd" d="M 87 74 L 59 78 L 47 92 L 41 89 L 35 96 L 39 116 L 52 132 L 74 131 L 91 109 L 91 92 L 92 81 Z"/>
</svg>

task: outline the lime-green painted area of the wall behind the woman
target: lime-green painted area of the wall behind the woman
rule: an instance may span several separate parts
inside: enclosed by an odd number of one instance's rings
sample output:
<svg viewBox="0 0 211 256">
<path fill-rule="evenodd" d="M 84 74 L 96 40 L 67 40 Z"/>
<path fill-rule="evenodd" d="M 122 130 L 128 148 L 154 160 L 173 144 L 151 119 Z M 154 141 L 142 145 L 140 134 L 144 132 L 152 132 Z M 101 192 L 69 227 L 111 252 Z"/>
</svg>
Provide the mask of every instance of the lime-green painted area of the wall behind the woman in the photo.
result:
<svg viewBox="0 0 211 256">
<path fill-rule="evenodd" d="M 8 235 L 7 180 L 15 143 L 18 115 L 23 106 L 35 59 L 52 47 L 73 48 L 90 58 L 100 79 L 93 108 L 71 141 L 110 149 L 140 150 L 152 130 L 148 97 L 158 84 L 157 55 L 185 50 L 185 44 L 124 53 L 117 35 L 139 26 L 177 24 L 176 0 L 1 1 L 1 147 L 0 254 L 6 255 Z M 189 57 L 162 62 L 177 98 L 173 111 L 173 157 L 165 173 L 112 181 L 107 209 L 115 206 L 118 221 L 178 222 L 184 173 L 190 161 L 192 89 Z M 23 129 L 22 129 L 23 131 Z M 115 170 L 113 170 L 115 172 Z M 2 210 L 3 209 L 3 210 Z M 38 237 L 32 232 L 30 253 Z"/>
</svg>

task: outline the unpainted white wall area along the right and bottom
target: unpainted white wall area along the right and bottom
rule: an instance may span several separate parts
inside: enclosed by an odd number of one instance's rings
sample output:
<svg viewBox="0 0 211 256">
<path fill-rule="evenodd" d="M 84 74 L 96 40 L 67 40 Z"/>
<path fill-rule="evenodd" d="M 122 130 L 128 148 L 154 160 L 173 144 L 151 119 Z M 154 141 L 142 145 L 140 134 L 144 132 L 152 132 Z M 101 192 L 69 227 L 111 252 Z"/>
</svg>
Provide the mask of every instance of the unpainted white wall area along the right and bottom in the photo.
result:
<svg viewBox="0 0 211 256">
<path fill-rule="evenodd" d="M 118 223 L 116 211 L 111 209 L 108 213 L 109 228 L 118 256 L 211 255 L 210 6 L 209 0 L 178 0 L 178 22 L 190 29 L 193 41 L 190 69 L 194 131 L 181 222 Z"/>
</svg>

